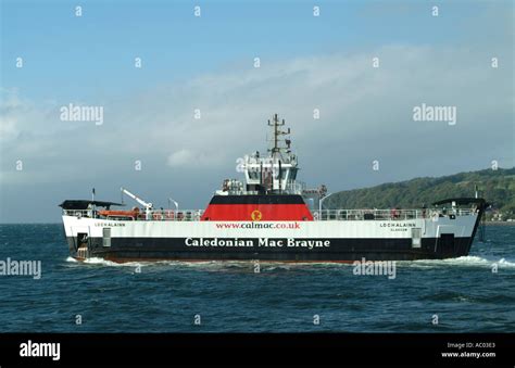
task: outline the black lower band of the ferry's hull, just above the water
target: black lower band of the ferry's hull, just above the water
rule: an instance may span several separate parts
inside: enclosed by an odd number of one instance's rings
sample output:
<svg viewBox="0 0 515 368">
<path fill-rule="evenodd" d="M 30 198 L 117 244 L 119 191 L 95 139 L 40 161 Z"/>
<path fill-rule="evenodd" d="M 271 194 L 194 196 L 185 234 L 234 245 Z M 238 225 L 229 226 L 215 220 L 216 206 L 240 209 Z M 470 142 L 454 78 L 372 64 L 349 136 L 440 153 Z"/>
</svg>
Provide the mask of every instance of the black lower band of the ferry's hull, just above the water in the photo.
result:
<svg viewBox="0 0 515 368">
<path fill-rule="evenodd" d="M 411 239 L 327 239 L 330 248 L 260 246 L 259 239 L 242 240 L 246 245 L 191 245 L 186 238 L 121 238 L 104 246 L 102 238 L 89 238 L 78 245 L 68 237 L 71 255 L 78 259 L 99 257 L 114 262 L 131 261 L 265 261 L 265 262 L 354 262 L 443 259 L 468 255 L 474 238 L 425 238 L 419 248 Z M 279 241 L 280 239 L 277 239 Z M 206 240 L 210 243 L 210 240 Z M 252 243 L 252 245 L 250 245 Z M 190 245 L 187 245 L 190 244 Z M 86 246 L 85 246 L 86 245 Z M 313 245 L 313 246 L 311 246 Z M 311 246 L 311 248 L 310 248 Z"/>
</svg>

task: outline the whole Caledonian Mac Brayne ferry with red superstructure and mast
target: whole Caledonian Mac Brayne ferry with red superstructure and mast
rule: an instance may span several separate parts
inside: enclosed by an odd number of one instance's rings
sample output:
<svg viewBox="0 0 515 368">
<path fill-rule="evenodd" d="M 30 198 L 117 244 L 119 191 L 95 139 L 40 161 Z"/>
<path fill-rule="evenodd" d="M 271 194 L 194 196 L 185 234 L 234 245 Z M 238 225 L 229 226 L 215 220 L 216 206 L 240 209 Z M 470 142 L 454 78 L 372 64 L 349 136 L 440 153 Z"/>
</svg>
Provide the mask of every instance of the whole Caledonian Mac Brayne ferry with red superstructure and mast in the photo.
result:
<svg viewBox="0 0 515 368">
<path fill-rule="evenodd" d="M 415 261 L 465 256 L 486 202 L 451 198 L 418 208 L 325 208 L 325 186 L 297 179 L 290 129 L 268 120 L 265 155 L 246 155 L 242 179 L 225 179 L 205 210 L 181 210 L 169 199 L 155 208 L 129 190 L 124 203 L 65 200 L 60 204 L 67 246 L 79 261 L 341 262 Z M 123 201 L 122 201 L 123 202 Z"/>
</svg>

